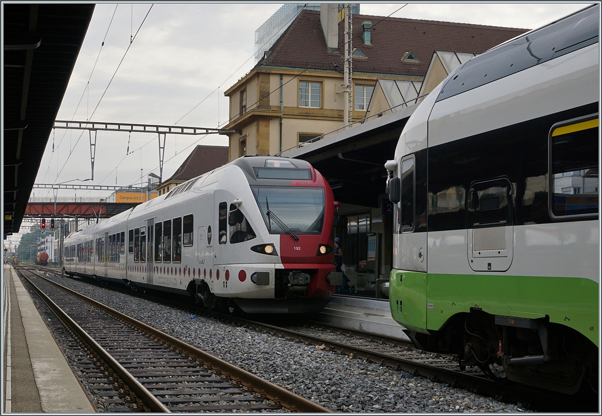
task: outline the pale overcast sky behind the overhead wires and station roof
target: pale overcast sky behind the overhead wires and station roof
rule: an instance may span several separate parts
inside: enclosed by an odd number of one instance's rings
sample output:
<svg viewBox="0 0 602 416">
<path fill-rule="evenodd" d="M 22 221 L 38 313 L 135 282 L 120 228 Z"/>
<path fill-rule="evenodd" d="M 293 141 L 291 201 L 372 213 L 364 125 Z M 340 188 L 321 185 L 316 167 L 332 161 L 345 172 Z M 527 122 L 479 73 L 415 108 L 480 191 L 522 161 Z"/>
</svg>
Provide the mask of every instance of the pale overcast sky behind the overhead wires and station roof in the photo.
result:
<svg viewBox="0 0 602 416">
<path fill-rule="evenodd" d="M 362 3 L 360 11 L 376 16 L 531 29 L 586 4 Z M 224 126 L 228 99 L 223 91 L 252 69 L 255 29 L 281 5 L 96 5 L 57 120 Z M 228 145 L 228 138 L 168 135 L 164 178 L 175 172 L 196 144 Z M 130 137 L 126 132 L 98 132 L 94 180 L 84 183 L 138 185 L 141 170 L 146 181 L 147 174 L 159 174 L 158 168 L 156 135 L 132 133 Z M 90 176 L 88 133 L 61 129 L 51 133 L 36 183 L 82 183 L 79 180 Z M 34 193 L 35 197 L 53 196 L 46 189 L 34 189 Z M 61 190 L 57 196 L 108 194 Z"/>
</svg>

